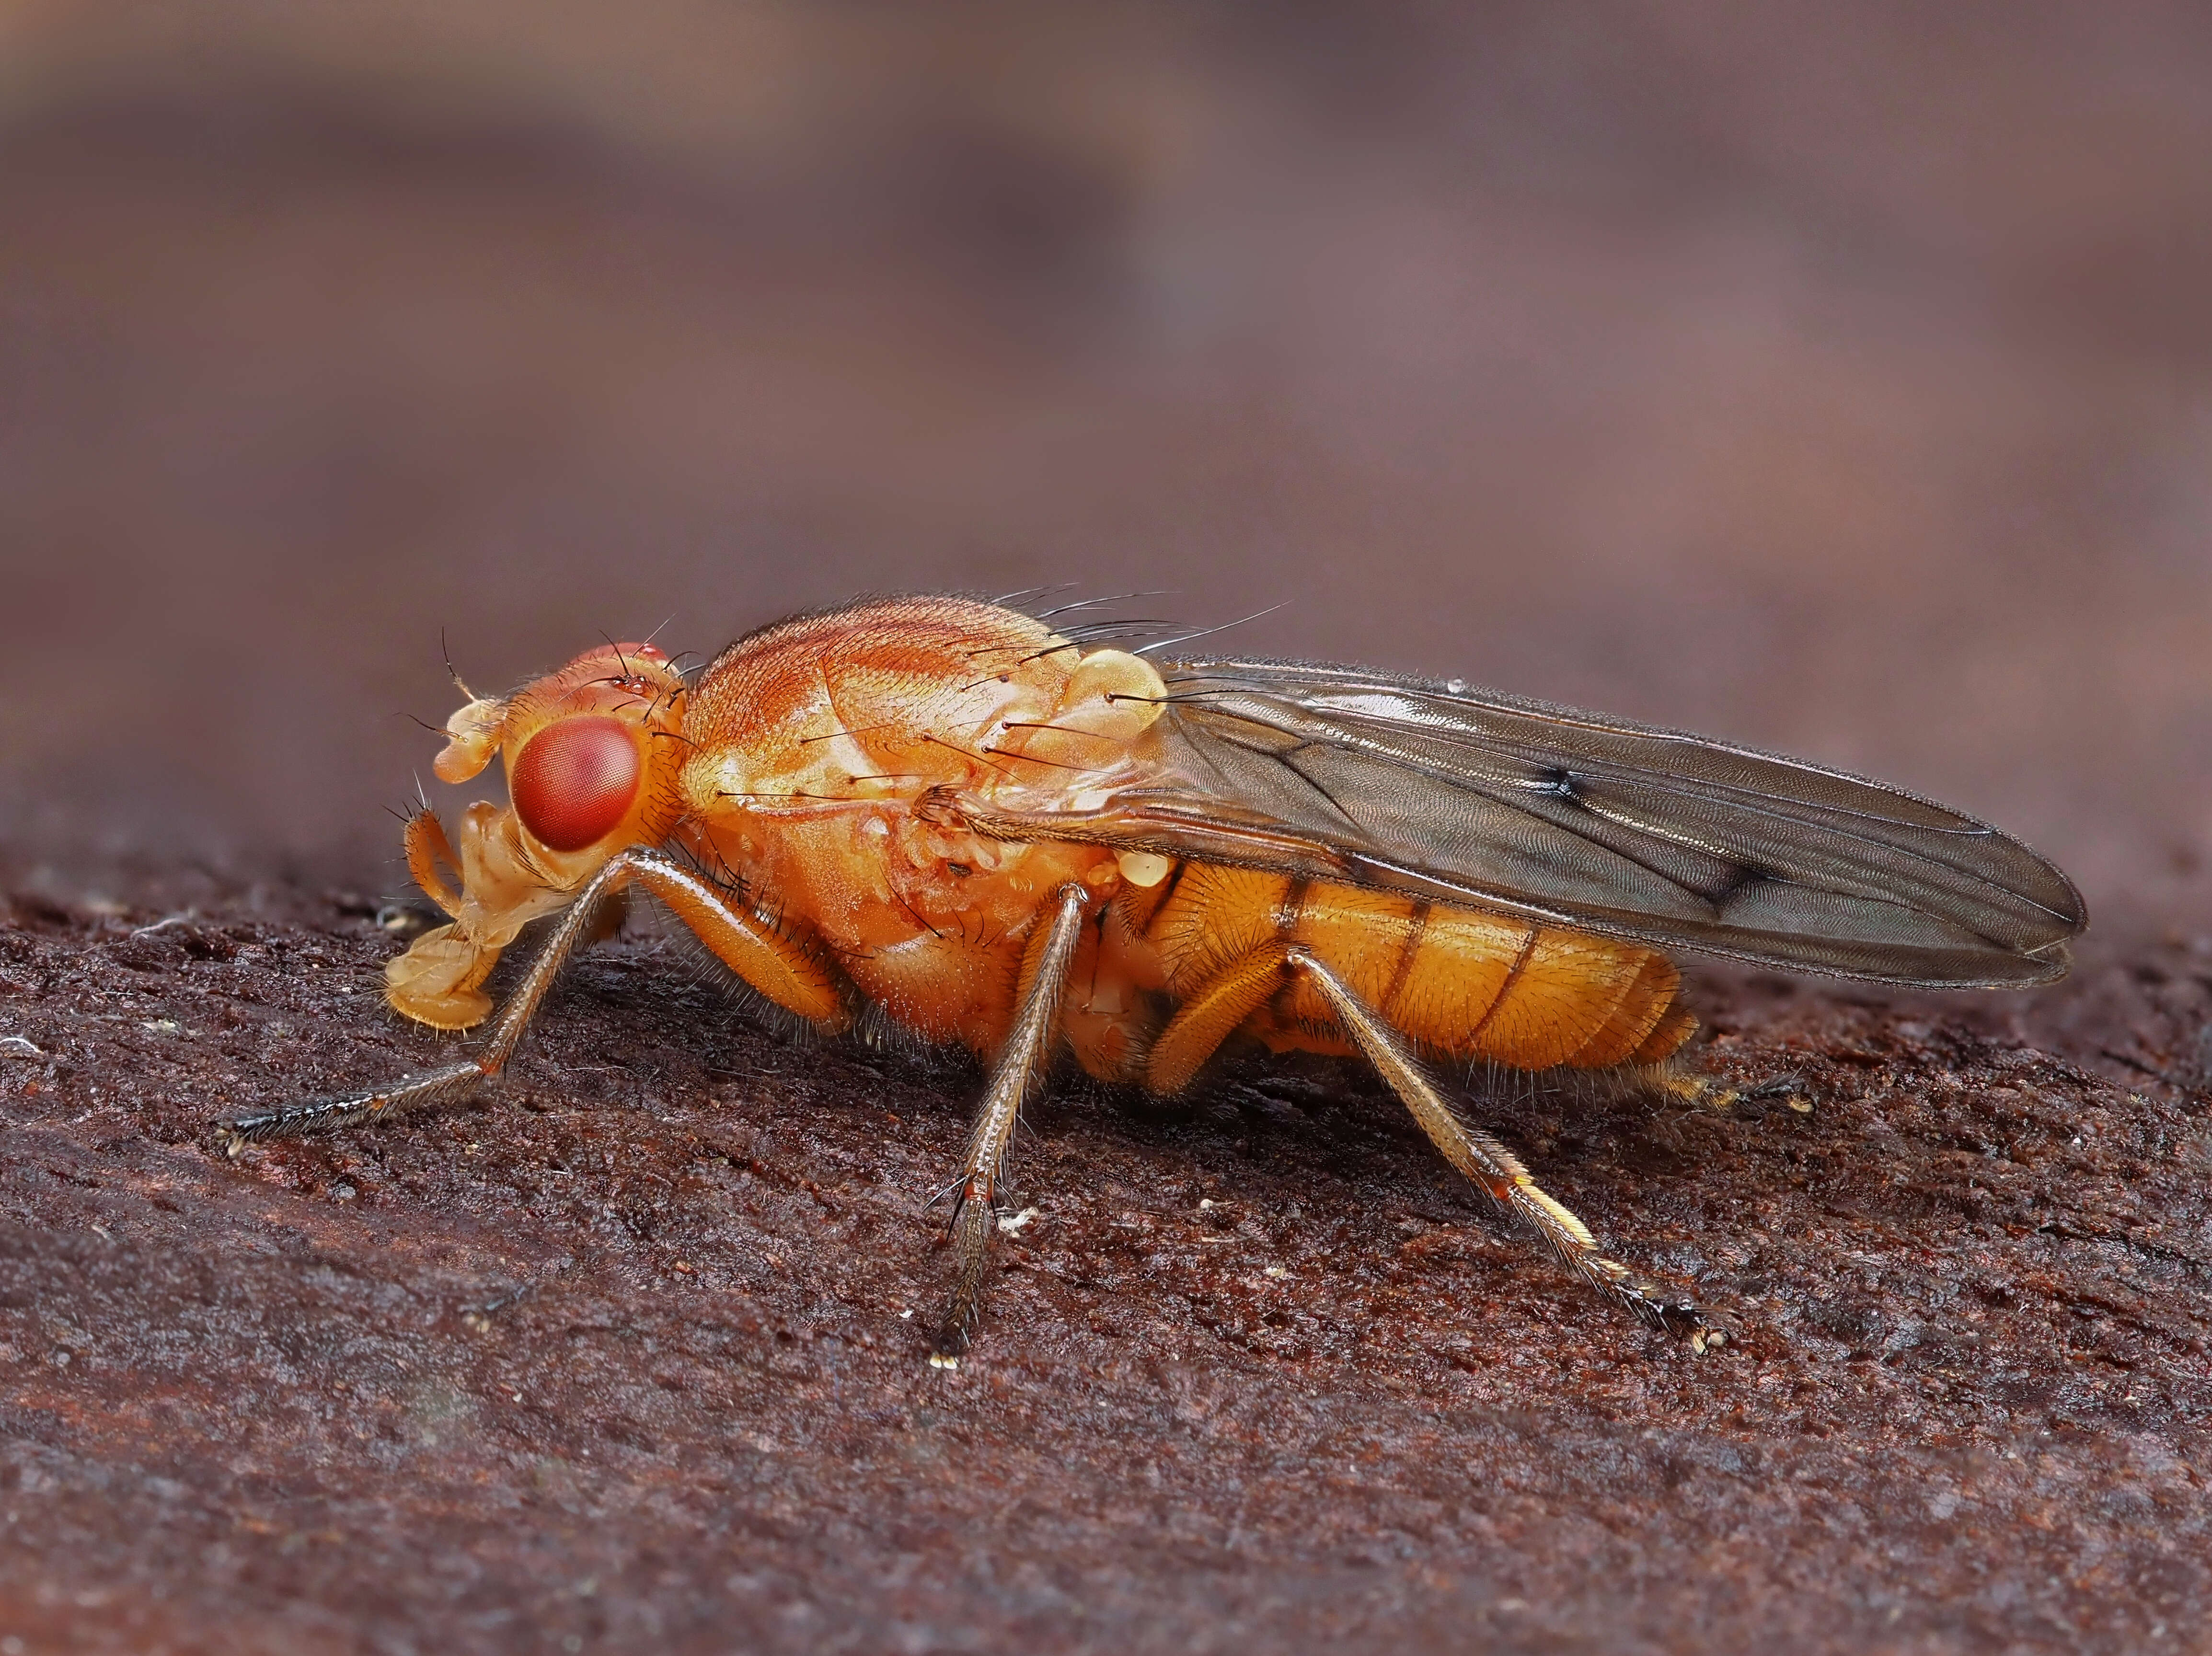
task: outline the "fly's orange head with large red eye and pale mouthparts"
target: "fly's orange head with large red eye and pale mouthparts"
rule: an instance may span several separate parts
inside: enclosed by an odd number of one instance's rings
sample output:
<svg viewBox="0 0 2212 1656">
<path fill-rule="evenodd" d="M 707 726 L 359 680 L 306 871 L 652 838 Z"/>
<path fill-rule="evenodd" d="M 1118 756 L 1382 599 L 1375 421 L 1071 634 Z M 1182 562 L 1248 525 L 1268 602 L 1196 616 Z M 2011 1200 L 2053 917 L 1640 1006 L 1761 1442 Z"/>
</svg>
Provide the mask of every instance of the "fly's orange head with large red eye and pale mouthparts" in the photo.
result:
<svg viewBox="0 0 2212 1656">
<path fill-rule="evenodd" d="M 491 1002 L 478 986 L 524 924 L 564 906 L 617 851 L 668 838 L 681 814 L 684 696 L 650 643 L 608 643 L 447 719 L 438 780 L 467 783 L 500 756 L 509 805 L 462 811 L 458 851 L 434 814 L 407 825 L 407 864 L 453 924 L 385 968 L 396 1010 L 438 1028 L 482 1021 Z M 440 862 L 460 873 L 458 891 Z"/>
</svg>

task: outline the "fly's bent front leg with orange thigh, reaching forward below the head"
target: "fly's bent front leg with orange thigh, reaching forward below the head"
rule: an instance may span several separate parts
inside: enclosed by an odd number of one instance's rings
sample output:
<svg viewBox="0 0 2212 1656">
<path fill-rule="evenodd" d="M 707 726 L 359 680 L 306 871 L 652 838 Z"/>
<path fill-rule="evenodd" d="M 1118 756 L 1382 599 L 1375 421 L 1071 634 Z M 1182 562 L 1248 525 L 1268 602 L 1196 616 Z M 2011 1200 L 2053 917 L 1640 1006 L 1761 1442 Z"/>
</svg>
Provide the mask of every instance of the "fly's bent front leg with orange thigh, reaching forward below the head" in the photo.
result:
<svg viewBox="0 0 2212 1656">
<path fill-rule="evenodd" d="M 237 1156 L 257 1139 L 288 1139 L 365 1121 L 387 1121 L 425 1105 L 467 1099 L 489 1077 L 507 1068 L 522 1044 L 522 1030 L 529 1028 L 560 968 L 568 964 L 568 955 L 597 935 L 595 922 L 602 909 L 633 882 L 668 904 L 677 920 L 768 999 L 825 1030 L 843 1024 L 845 1002 L 838 982 L 816 960 L 759 915 L 732 906 L 719 887 L 666 851 L 630 847 L 613 856 L 562 911 L 544 948 L 538 951 L 515 993 L 500 1008 L 473 1057 L 440 1070 L 407 1075 L 387 1086 L 299 1099 L 274 1110 L 228 1117 L 215 1125 L 217 1141 Z"/>
</svg>

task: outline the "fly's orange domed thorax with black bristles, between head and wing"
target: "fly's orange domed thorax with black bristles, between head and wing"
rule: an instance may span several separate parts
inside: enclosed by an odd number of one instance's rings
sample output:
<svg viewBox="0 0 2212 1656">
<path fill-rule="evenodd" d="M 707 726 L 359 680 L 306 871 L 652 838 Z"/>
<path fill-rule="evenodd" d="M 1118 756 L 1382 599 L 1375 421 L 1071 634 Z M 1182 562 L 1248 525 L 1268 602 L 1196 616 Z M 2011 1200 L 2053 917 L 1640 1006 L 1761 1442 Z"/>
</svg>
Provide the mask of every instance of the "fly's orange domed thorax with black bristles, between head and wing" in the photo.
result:
<svg viewBox="0 0 2212 1656">
<path fill-rule="evenodd" d="M 967 599 L 785 621 L 692 690 L 681 838 L 909 1028 L 991 1050 L 1051 895 L 1079 882 L 1104 913 L 1126 878 L 1104 847 L 995 840 L 969 816 L 1095 809 L 1141 774 L 1164 696 L 1141 657 Z"/>
</svg>

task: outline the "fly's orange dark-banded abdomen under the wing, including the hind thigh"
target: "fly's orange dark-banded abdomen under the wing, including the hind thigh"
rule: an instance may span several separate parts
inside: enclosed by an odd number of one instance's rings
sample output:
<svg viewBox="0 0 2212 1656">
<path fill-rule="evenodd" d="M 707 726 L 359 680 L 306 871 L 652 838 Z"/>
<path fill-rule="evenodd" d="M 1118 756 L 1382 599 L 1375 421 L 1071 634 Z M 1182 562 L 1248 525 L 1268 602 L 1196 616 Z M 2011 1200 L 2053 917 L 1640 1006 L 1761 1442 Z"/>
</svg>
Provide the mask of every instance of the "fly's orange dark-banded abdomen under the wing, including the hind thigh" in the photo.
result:
<svg viewBox="0 0 2212 1656">
<path fill-rule="evenodd" d="M 1183 1079 L 1212 1035 L 1345 1052 L 1318 988 L 1272 971 L 1312 951 L 1354 995 L 1422 1046 L 1517 1070 L 1655 1063 L 1697 1019 L 1674 966 L 1650 948 L 1387 891 L 1186 862 L 1146 926 L 1177 1019 L 1152 1081 Z M 1212 1035 L 1212 1039 L 1219 1039 Z"/>
</svg>

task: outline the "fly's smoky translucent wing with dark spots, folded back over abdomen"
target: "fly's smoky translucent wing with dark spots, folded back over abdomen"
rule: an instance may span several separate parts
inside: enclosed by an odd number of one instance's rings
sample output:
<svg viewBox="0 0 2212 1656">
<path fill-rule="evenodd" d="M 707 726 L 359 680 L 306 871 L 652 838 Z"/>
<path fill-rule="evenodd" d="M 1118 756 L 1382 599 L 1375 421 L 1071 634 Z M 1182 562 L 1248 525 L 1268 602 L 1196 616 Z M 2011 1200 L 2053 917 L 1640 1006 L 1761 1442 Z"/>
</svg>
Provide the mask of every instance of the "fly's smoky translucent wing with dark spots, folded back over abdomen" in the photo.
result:
<svg viewBox="0 0 2212 1656">
<path fill-rule="evenodd" d="M 1157 769 L 1055 838 L 1891 984 L 2046 984 L 2086 924 L 2017 840 L 1796 758 L 1360 668 L 1164 679 Z"/>
</svg>

